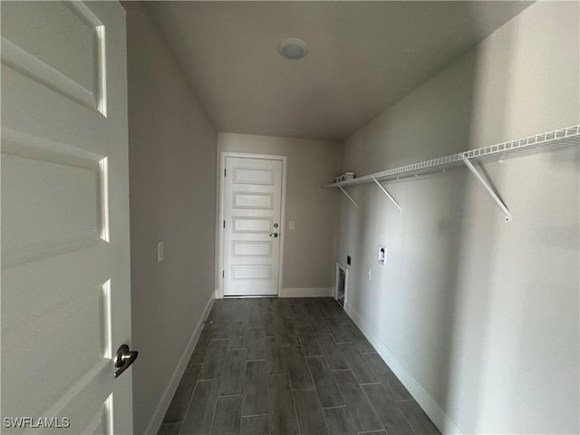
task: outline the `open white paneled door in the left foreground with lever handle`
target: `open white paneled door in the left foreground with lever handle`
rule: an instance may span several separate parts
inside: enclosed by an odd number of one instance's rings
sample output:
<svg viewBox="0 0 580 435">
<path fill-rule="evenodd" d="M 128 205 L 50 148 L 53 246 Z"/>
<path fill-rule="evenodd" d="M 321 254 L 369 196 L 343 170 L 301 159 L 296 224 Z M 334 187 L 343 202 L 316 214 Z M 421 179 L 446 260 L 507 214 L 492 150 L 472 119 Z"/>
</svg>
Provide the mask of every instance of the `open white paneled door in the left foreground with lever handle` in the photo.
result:
<svg viewBox="0 0 580 435">
<path fill-rule="evenodd" d="M 0 8 L 3 433 L 131 433 L 125 13 Z"/>
</svg>

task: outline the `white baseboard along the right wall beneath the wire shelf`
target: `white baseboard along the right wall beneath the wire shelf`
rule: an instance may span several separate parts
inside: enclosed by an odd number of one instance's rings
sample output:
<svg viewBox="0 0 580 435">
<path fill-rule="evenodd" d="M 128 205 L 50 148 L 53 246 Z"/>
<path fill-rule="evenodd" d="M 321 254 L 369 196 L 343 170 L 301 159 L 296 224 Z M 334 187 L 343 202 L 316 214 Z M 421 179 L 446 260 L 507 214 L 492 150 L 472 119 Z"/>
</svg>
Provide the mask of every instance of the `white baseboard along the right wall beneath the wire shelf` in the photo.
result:
<svg viewBox="0 0 580 435">
<path fill-rule="evenodd" d="M 377 353 L 381 355 L 382 360 L 387 363 L 405 388 L 411 392 L 411 396 L 419 403 L 423 411 L 429 415 L 429 418 L 435 423 L 441 433 L 443 435 L 462 435 L 463 432 L 459 430 L 453 420 L 449 418 L 445 411 L 441 410 L 437 402 L 421 387 L 420 383 L 407 370 L 401 360 L 392 353 L 391 348 L 372 330 L 372 327 L 362 320 L 361 315 L 353 309 L 353 306 L 347 303 L 344 309 L 346 314 L 349 314 L 353 322 L 364 333 L 367 340 L 374 346 Z"/>
</svg>

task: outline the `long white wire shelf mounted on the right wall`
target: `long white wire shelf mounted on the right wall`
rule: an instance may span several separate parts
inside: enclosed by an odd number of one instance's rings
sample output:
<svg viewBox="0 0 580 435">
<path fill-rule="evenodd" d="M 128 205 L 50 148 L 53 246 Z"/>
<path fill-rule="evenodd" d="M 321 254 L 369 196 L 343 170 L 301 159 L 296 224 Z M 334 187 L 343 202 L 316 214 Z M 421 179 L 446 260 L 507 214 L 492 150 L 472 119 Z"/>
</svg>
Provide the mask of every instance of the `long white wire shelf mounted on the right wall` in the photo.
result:
<svg viewBox="0 0 580 435">
<path fill-rule="evenodd" d="M 387 181 L 390 179 L 402 179 L 419 176 L 422 174 L 439 172 L 465 166 L 464 159 L 473 162 L 486 162 L 493 160 L 505 160 L 515 157 L 551 152 L 578 147 L 580 145 L 580 124 L 565 127 L 555 131 L 536 134 L 523 139 L 508 140 L 476 150 L 468 150 L 440 157 L 438 159 L 420 161 L 399 168 L 387 169 L 382 172 L 364 175 L 357 179 L 347 179 L 338 183 L 326 184 L 324 188 L 345 188 L 359 184 L 372 183 L 375 179 Z"/>
</svg>

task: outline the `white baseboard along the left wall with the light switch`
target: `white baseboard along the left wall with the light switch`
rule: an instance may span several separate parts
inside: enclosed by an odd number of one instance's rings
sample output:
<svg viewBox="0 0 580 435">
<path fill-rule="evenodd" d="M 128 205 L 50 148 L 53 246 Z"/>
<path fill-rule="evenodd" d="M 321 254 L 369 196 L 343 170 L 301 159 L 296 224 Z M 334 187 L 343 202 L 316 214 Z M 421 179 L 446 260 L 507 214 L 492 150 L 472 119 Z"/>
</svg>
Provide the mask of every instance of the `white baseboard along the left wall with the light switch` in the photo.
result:
<svg viewBox="0 0 580 435">
<path fill-rule="evenodd" d="M 215 299 L 212 295 L 212 297 L 210 297 L 208 300 L 208 304 L 206 304 L 206 307 L 203 310 L 203 314 L 201 314 L 201 319 L 199 319 L 199 322 L 196 325 L 195 329 L 193 330 L 193 333 L 191 333 L 191 337 L 189 337 L 189 342 L 186 345 L 185 349 L 183 350 L 183 353 L 181 354 L 179 363 L 175 368 L 175 370 L 173 371 L 173 375 L 171 376 L 171 379 L 169 380 L 169 383 L 165 388 L 165 391 L 163 391 L 163 395 L 161 396 L 161 399 L 157 404 L 157 407 L 155 408 L 153 415 L 151 416 L 151 420 L 147 425 L 147 430 L 145 430 L 145 433 L 150 435 L 157 435 L 157 432 L 160 430 L 161 423 L 163 422 L 163 417 L 165 417 L 165 412 L 167 412 L 169 404 L 171 403 L 171 399 L 173 399 L 173 395 L 175 394 L 175 391 L 178 389 L 179 381 L 181 381 L 181 376 L 183 376 L 183 373 L 185 372 L 185 369 L 188 366 L 189 358 L 191 358 L 191 353 L 193 353 L 193 349 L 196 347 L 196 344 L 198 343 L 199 334 L 203 329 L 203 321 L 208 318 L 209 312 L 211 311 L 211 307 L 213 306 L 214 301 Z"/>
</svg>

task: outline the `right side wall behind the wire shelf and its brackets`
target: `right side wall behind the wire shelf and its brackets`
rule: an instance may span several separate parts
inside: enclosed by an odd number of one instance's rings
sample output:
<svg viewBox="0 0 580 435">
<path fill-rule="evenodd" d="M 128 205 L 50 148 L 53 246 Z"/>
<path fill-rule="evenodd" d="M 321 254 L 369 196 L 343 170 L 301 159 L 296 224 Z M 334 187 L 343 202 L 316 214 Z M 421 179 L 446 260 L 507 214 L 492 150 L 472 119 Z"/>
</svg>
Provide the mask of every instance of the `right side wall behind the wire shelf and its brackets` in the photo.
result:
<svg viewBox="0 0 580 435">
<path fill-rule="evenodd" d="M 356 131 L 359 175 L 580 122 L 578 3 L 536 3 Z M 489 163 L 341 203 L 348 309 L 446 431 L 578 433 L 578 150 Z M 387 266 L 376 261 L 388 247 Z M 372 268 L 372 281 L 366 279 Z M 446 414 L 446 415 L 445 415 Z"/>
</svg>

